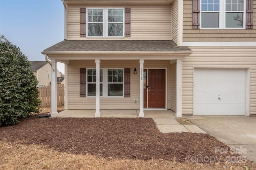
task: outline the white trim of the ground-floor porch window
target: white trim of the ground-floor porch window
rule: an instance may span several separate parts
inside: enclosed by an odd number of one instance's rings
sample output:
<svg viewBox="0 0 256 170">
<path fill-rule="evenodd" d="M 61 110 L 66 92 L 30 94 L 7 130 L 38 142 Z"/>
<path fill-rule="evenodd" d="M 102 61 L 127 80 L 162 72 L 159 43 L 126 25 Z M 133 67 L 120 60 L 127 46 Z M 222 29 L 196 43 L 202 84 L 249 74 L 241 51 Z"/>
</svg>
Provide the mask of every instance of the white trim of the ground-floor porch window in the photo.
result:
<svg viewBox="0 0 256 170">
<path fill-rule="evenodd" d="M 96 69 L 86 68 L 86 98 L 95 98 L 96 96 L 88 96 L 88 70 Z M 102 70 L 102 96 L 100 98 L 124 98 L 124 68 L 100 68 Z M 108 96 L 108 69 L 123 70 L 123 96 Z M 121 84 L 121 83 L 120 83 Z"/>
</svg>

